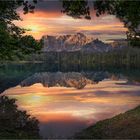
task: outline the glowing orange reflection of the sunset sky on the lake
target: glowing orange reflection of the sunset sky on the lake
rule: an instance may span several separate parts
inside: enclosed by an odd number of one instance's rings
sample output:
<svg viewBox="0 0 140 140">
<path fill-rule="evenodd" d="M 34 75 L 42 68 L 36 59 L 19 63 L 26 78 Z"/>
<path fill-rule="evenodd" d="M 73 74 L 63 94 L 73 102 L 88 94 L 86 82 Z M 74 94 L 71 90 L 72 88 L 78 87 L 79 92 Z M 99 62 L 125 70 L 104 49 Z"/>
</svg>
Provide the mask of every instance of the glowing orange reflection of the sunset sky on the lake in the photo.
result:
<svg viewBox="0 0 140 140">
<path fill-rule="evenodd" d="M 41 122 L 70 121 L 72 118 L 89 122 L 111 117 L 140 103 L 140 86 L 125 83 L 125 80 L 104 80 L 81 90 L 34 84 L 17 86 L 3 94 L 16 98 L 19 108 L 27 110 Z M 108 115 L 99 117 L 100 113 Z"/>
</svg>

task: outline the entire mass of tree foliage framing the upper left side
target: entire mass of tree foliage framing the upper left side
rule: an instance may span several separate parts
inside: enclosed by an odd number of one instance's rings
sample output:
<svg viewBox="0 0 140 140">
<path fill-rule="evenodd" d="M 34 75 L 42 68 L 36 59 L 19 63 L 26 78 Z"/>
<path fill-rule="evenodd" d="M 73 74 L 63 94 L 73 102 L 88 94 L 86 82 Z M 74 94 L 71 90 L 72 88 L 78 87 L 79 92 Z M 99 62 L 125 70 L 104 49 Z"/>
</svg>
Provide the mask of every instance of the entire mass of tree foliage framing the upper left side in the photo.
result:
<svg viewBox="0 0 140 140">
<path fill-rule="evenodd" d="M 24 14 L 34 12 L 36 0 L 10 0 L 0 1 L 0 59 L 21 59 L 25 54 L 33 53 L 41 49 L 32 36 L 23 36 L 25 29 L 16 26 L 13 21 L 21 20 L 17 8 L 23 7 Z M 27 46 L 26 46 L 27 45 Z"/>
</svg>

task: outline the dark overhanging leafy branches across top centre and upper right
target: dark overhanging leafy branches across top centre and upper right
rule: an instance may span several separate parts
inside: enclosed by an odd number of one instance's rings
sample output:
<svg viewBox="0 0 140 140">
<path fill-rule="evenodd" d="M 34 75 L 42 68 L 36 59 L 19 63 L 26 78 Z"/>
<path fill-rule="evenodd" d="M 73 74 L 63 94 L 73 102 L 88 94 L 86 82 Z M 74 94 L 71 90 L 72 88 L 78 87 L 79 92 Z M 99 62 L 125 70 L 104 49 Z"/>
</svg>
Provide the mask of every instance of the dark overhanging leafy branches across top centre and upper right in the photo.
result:
<svg viewBox="0 0 140 140">
<path fill-rule="evenodd" d="M 62 2 L 64 8 L 62 11 L 67 15 L 74 18 L 86 18 L 88 16 L 90 19 L 88 0 L 63 0 Z M 107 13 L 119 18 L 128 28 L 127 38 L 130 44 L 140 45 L 140 1 L 94 0 L 93 8 L 97 16 Z"/>
</svg>

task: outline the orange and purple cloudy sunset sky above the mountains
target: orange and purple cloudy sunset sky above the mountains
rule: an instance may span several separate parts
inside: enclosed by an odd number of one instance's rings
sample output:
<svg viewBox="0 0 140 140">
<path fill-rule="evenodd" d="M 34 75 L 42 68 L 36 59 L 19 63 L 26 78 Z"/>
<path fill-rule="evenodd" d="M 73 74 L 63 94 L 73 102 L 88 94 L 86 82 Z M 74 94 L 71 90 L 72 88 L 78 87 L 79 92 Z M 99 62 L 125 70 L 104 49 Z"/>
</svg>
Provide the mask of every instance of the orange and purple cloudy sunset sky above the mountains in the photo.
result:
<svg viewBox="0 0 140 140">
<path fill-rule="evenodd" d="M 126 38 L 126 29 L 114 16 L 104 15 L 96 17 L 92 11 L 92 19 L 74 19 L 61 12 L 62 5 L 59 1 L 42 1 L 36 5 L 35 13 L 24 15 L 23 10 L 18 10 L 23 21 L 15 21 L 16 25 L 30 29 L 26 34 L 40 39 L 43 35 L 64 35 L 82 32 L 86 35 L 108 39 Z"/>
</svg>

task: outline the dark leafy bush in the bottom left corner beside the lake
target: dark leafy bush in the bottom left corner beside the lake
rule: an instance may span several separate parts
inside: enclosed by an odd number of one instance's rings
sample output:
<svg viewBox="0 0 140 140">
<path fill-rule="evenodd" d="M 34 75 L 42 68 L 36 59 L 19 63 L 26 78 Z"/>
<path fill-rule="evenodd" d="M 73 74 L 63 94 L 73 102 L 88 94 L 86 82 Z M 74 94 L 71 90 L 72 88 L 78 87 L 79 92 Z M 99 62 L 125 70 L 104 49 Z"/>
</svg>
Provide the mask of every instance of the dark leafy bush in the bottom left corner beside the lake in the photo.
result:
<svg viewBox="0 0 140 140">
<path fill-rule="evenodd" d="M 38 120 L 18 110 L 15 102 L 15 99 L 0 97 L 0 138 L 39 139 Z"/>
</svg>

